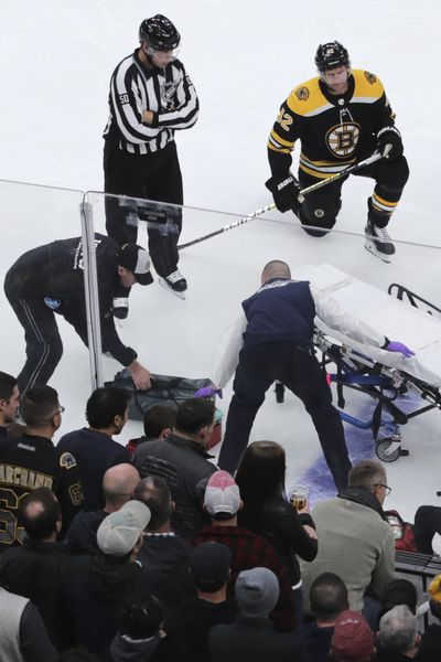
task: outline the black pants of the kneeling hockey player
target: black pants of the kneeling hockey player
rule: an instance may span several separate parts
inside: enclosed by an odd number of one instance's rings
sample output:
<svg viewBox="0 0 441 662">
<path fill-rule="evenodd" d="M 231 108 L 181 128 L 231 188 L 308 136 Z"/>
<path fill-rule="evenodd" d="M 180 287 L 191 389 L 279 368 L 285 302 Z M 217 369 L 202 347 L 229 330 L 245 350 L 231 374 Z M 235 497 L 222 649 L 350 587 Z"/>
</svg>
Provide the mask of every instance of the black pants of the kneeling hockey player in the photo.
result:
<svg viewBox="0 0 441 662">
<path fill-rule="evenodd" d="M 374 195 L 389 203 L 390 210 L 394 210 L 396 203 L 401 197 L 402 190 L 409 178 L 409 168 L 405 157 L 389 163 L 386 159 L 380 159 L 356 173 L 357 177 L 367 177 L 375 180 Z M 331 229 L 335 225 L 336 217 L 342 206 L 342 186 L 346 178 L 323 186 L 314 193 L 305 196 L 304 203 L 294 210 L 303 226 L 323 227 Z M 303 171 L 299 170 L 300 186 L 305 189 L 316 184 L 318 180 Z M 373 206 L 373 199 L 368 199 L 368 218 L 378 227 L 386 227 L 389 222 L 391 211 L 378 211 Z M 308 232 L 308 231 L 306 231 Z M 311 231 L 309 234 L 322 236 L 325 232 Z"/>
</svg>

